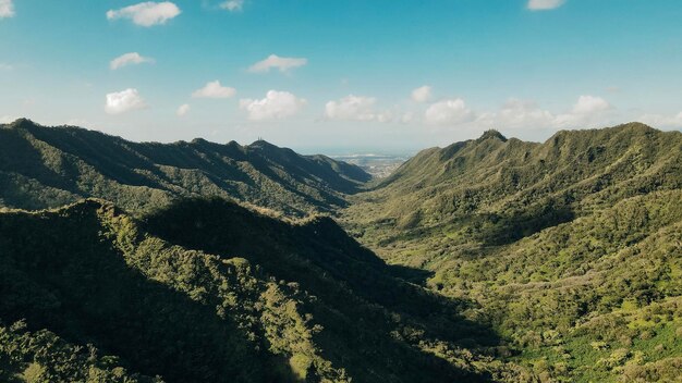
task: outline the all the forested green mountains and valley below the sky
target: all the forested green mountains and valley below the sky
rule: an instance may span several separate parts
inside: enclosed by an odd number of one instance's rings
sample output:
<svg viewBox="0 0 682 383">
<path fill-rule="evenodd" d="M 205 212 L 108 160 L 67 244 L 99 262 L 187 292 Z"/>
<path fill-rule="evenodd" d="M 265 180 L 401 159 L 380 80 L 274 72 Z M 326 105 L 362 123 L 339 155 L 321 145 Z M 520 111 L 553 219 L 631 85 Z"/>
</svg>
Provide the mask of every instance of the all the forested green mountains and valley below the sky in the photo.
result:
<svg viewBox="0 0 682 383">
<path fill-rule="evenodd" d="M 2 382 L 675 381 L 682 134 L 489 131 L 370 181 L 19 120 L 0 298 Z"/>
</svg>

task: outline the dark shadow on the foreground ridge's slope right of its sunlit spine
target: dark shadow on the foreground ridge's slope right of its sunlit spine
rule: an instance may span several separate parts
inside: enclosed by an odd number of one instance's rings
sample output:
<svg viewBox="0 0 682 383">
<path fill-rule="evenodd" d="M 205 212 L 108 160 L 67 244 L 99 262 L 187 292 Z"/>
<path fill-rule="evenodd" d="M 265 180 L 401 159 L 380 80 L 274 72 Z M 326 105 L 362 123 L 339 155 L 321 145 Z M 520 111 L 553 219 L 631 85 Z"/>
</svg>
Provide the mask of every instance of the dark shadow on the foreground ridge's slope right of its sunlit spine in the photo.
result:
<svg viewBox="0 0 682 383">
<path fill-rule="evenodd" d="M 193 199 L 146 217 L 145 226 L 171 243 L 243 257 L 276 281 L 296 282 L 316 297 L 304 304 L 324 329 L 315 343 L 357 381 L 489 380 L 417 347 L 435 339 L 474 351 L 499 345 L 491 329 L 461 317 L 470 302 L 403 282 L 427 274 L 387 267 L 331 219 L 291 225 L 224 200 Z"/>
</svg>

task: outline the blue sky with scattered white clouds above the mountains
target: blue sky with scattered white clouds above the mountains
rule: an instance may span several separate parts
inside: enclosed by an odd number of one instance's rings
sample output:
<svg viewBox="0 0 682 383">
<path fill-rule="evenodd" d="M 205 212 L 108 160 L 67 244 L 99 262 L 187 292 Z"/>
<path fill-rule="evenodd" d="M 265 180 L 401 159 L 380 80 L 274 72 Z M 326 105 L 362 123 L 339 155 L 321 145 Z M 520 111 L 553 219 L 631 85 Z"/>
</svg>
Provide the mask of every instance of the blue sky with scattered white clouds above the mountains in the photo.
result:
<svg viewBox="0 0 682 383">
<path fill-rule="evenodd" d="M 398 153 L 682 128 L 680 0 L 0 0 L 0 123 Z"/>
</svg>

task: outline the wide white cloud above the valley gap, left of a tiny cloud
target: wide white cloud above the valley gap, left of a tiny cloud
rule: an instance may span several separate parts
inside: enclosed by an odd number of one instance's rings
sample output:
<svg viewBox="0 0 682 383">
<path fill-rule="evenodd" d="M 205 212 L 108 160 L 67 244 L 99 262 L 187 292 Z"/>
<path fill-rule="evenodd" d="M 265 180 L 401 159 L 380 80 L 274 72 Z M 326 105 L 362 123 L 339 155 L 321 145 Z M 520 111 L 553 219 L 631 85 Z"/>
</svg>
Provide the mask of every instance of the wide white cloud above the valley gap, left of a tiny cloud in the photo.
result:
<svg viewBox="0 0 682 383">
<path fill-rule="evenodd" d="M 349 95 L 337 101 L 329 101 L 325 106 L 325 118 L 340 121 L 377 121 L 390 122 L 393 116 L 389 111 L 377 112 L 377 99 L 366 96 Z"/>
</svg>

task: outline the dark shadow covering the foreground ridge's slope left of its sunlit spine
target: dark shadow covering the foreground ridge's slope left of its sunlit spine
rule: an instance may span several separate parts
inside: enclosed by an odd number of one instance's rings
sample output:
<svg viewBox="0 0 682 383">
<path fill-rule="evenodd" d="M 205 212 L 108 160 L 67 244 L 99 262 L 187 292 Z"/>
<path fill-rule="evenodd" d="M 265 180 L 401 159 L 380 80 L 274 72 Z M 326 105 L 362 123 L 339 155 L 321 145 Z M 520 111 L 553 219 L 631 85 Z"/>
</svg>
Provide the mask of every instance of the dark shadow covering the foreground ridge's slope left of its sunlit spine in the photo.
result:
<svg viewBox="0 0 682 383">
<path fill-rule="evenodd" d="M 90 202 L 87 202 L 90 203 Z M 83 208 L 78 206 L 76 208 Z M 0 215 L 0 317 L 25 318 L 70 343 L 94 344 L 167 382 L 295 381 L 215 305 L 199 304 L 126 264 L 96 214 Z"/>
</svg>

